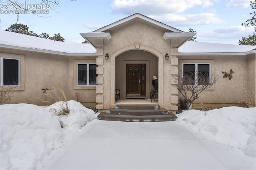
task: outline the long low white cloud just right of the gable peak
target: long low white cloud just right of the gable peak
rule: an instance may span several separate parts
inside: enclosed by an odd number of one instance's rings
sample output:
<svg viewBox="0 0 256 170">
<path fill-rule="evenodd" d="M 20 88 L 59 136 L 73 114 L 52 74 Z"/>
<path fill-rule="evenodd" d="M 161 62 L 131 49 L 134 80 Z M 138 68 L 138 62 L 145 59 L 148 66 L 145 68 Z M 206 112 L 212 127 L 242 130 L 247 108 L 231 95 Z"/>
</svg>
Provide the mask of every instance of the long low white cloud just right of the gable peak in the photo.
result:
<svg viewBox="0 0 256 170">
<path fill-rule="evenodd" d="M 164 22 L 170 26 L 195 26 L 195 25 L 207 25 L 207 24 L 219 24 L 224 20 L 218 18 L 213 13 L 202 14 L 188 14 L 188 15 L 176 15 L 166 14 L 163 16 L 149 16 L 160 22 Z"/>
</svg>

